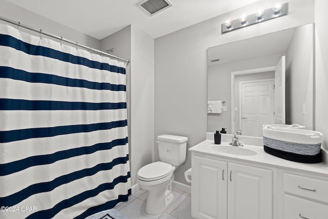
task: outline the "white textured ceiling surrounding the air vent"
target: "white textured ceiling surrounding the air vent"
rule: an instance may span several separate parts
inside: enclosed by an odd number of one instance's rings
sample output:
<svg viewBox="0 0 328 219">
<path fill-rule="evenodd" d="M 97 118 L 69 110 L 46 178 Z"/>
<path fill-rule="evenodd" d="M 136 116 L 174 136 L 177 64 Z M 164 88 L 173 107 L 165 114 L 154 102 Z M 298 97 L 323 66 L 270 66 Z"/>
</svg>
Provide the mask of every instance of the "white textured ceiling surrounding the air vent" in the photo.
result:
<svg viewBox="0 0 328 219">
<path fill-rule="evenodd" d="M 60 24 L 102 39 L 128 25 L 157 38 L 260 0 L 169 0 L 173 7 L 149 16 L 141 0 L 7 0 Z"/>
</svg>

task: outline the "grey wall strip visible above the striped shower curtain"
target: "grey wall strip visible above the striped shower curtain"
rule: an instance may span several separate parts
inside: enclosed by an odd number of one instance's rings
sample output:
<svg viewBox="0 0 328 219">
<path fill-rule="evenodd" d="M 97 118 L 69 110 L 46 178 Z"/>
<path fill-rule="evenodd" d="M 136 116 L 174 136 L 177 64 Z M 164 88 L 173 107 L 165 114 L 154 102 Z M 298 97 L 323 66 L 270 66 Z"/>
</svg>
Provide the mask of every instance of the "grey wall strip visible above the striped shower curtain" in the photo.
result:
<svg viewBox="0 0 328 219">
<path fill-rule="evenodd" d="M 18 7 L 12 3 L 4 0 L 0 0 L 0 16 L 12 19 L 15 22 L 20 22 L 24 25 L 33 27 L 35 29 L 42 29 L 44 32 L 48 32 L 63 38 L 69 39 L 70 41 L 77 42 L 79 44 L 90 46 L 94 49 L 100 49 L 100 42 L 98 39 L 93 38 L 89 35 L 81 33 L 77 30 L 69 28 L 65 25 L 54 22 L 46 17 L 33 13 L 26 10 L 25 8 Z M 8 24 L 7 22 L 0 21 L 2 24 Z M 14 26 L 14 25 L 12 25 Z M 17 26 L 14 26 L 17 28 Z M 39 34 L 22 28 L 22 31 L 38 36 Z M 43 35 L 45 38 L 51 38 Z M 54 38 L 51 38 L 54 39 Z M 54 39 L 55 41 L 57 39 Z M 67 44 L 63 42 L 63 44 Z M 68 44 L 71 45 L 71 44 Z M 71 45 L 72 46 L 72 45 Z"/>
</svg>

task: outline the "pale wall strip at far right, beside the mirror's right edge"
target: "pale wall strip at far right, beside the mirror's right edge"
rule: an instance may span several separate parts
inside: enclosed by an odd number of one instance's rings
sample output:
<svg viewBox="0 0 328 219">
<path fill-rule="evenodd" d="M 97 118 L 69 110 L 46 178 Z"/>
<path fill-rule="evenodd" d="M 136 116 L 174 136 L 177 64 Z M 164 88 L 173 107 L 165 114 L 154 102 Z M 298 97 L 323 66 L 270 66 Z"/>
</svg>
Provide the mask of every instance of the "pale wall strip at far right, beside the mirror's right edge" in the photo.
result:
<svg viewBox="0 0 328 219">
<path fill-rule="evenodd" d="M 323 133 L 322 146 L 328 151 L 328 1 L 315 0 L 315 128 Z M 326 158 L 328 162 L 328 158 Z"/>
</svg>

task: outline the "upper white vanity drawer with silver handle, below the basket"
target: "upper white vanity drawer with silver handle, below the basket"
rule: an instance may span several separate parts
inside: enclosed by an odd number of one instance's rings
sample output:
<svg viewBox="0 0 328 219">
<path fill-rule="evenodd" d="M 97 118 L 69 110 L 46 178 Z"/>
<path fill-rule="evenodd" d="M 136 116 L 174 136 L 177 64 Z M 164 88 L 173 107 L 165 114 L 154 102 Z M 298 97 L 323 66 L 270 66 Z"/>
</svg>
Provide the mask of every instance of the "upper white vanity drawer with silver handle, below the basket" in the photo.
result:
<svg viewBox="0 0 328 219">
<path fill-rule="evenodd" d="M 328 181 L 284 173 L 283 190 L 284 192 L 328 203 Z"/>
</svg>

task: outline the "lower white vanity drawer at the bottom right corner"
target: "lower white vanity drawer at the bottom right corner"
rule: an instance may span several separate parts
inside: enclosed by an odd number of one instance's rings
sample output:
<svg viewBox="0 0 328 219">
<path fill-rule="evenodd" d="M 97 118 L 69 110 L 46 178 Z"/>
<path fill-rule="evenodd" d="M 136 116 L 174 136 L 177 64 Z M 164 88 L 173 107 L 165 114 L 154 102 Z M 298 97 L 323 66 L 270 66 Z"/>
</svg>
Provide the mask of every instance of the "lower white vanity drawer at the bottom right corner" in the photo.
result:
<svg viewBox="0 0 328 219">
<path fill-rule="evenodd" d="M 326 219 L 328 206 L 284 194 L 284 219 Z"/>
</svg>

